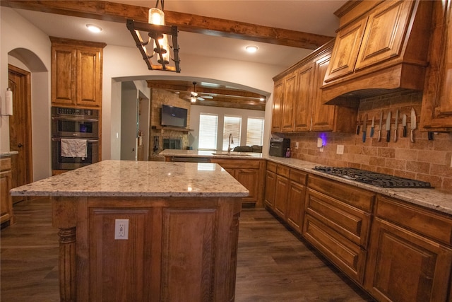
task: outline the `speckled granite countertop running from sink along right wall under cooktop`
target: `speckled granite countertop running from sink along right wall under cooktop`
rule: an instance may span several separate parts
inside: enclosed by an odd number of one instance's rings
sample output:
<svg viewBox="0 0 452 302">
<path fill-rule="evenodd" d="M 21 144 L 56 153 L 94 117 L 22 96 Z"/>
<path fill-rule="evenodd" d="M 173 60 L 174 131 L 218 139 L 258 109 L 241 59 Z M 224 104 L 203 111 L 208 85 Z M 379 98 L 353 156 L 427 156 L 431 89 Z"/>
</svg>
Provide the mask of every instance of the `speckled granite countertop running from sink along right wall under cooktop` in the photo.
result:
<svg viewBox="0 0 452 302">
<path fill-rule="evenodd" d="M 165 156 L 181 156 L 181 157 L 220 157 L 215 156 L 212 151 L 195 151 L 195 150 L 164 150 L 160 155 Z M 231 152 L 238 153 L 238 152 Z M 256 156 L 246 156 L 245 158 L 255 159 L 264 158 L 268 161 L 273 161 L 275 163 L 282 163 L 292 168 L 297 168 L 308 173 L 323 176 L 324 178 L 330 178 L 332 180 L 337 180 L 338 182 L 343 182 L 348 185 L 353 185 L 355 187 L 361 187 L 363 189 L 369 190 L 371 192 L 376 192 L 379 194 L 386 195 L 388 197 L 394 197 L 405 202 L 410 202 L 412 204 L 417 204 L 422 207 L 429 209 L 434 209 L 436 211 L 441 211 L 446 214 L 452 215 L 452 192 L 445 192 L 438 189 L 426 189 L 426 188 L 415 188 L 415 189 L 392 189 L 385 187 L 376 187 L 373 185 L 366 185 L 362 182 L 356 182 L 353 180 L 347 180 L 345 178 L 340 178 L 335 175 L 330 175 L 323 173 L 321 171 L 313 170 L 319 163 L 311 163 L 309 161 L 301 161 L 295 158 L 284 158 L 276 156 L 263 156 L 261 153 L 249 153 L 256 154 Z M 241 156 L 237 156 L 241 157 Z M 237 158 L 232 157 L 232 158 Z"/>
</svg>

